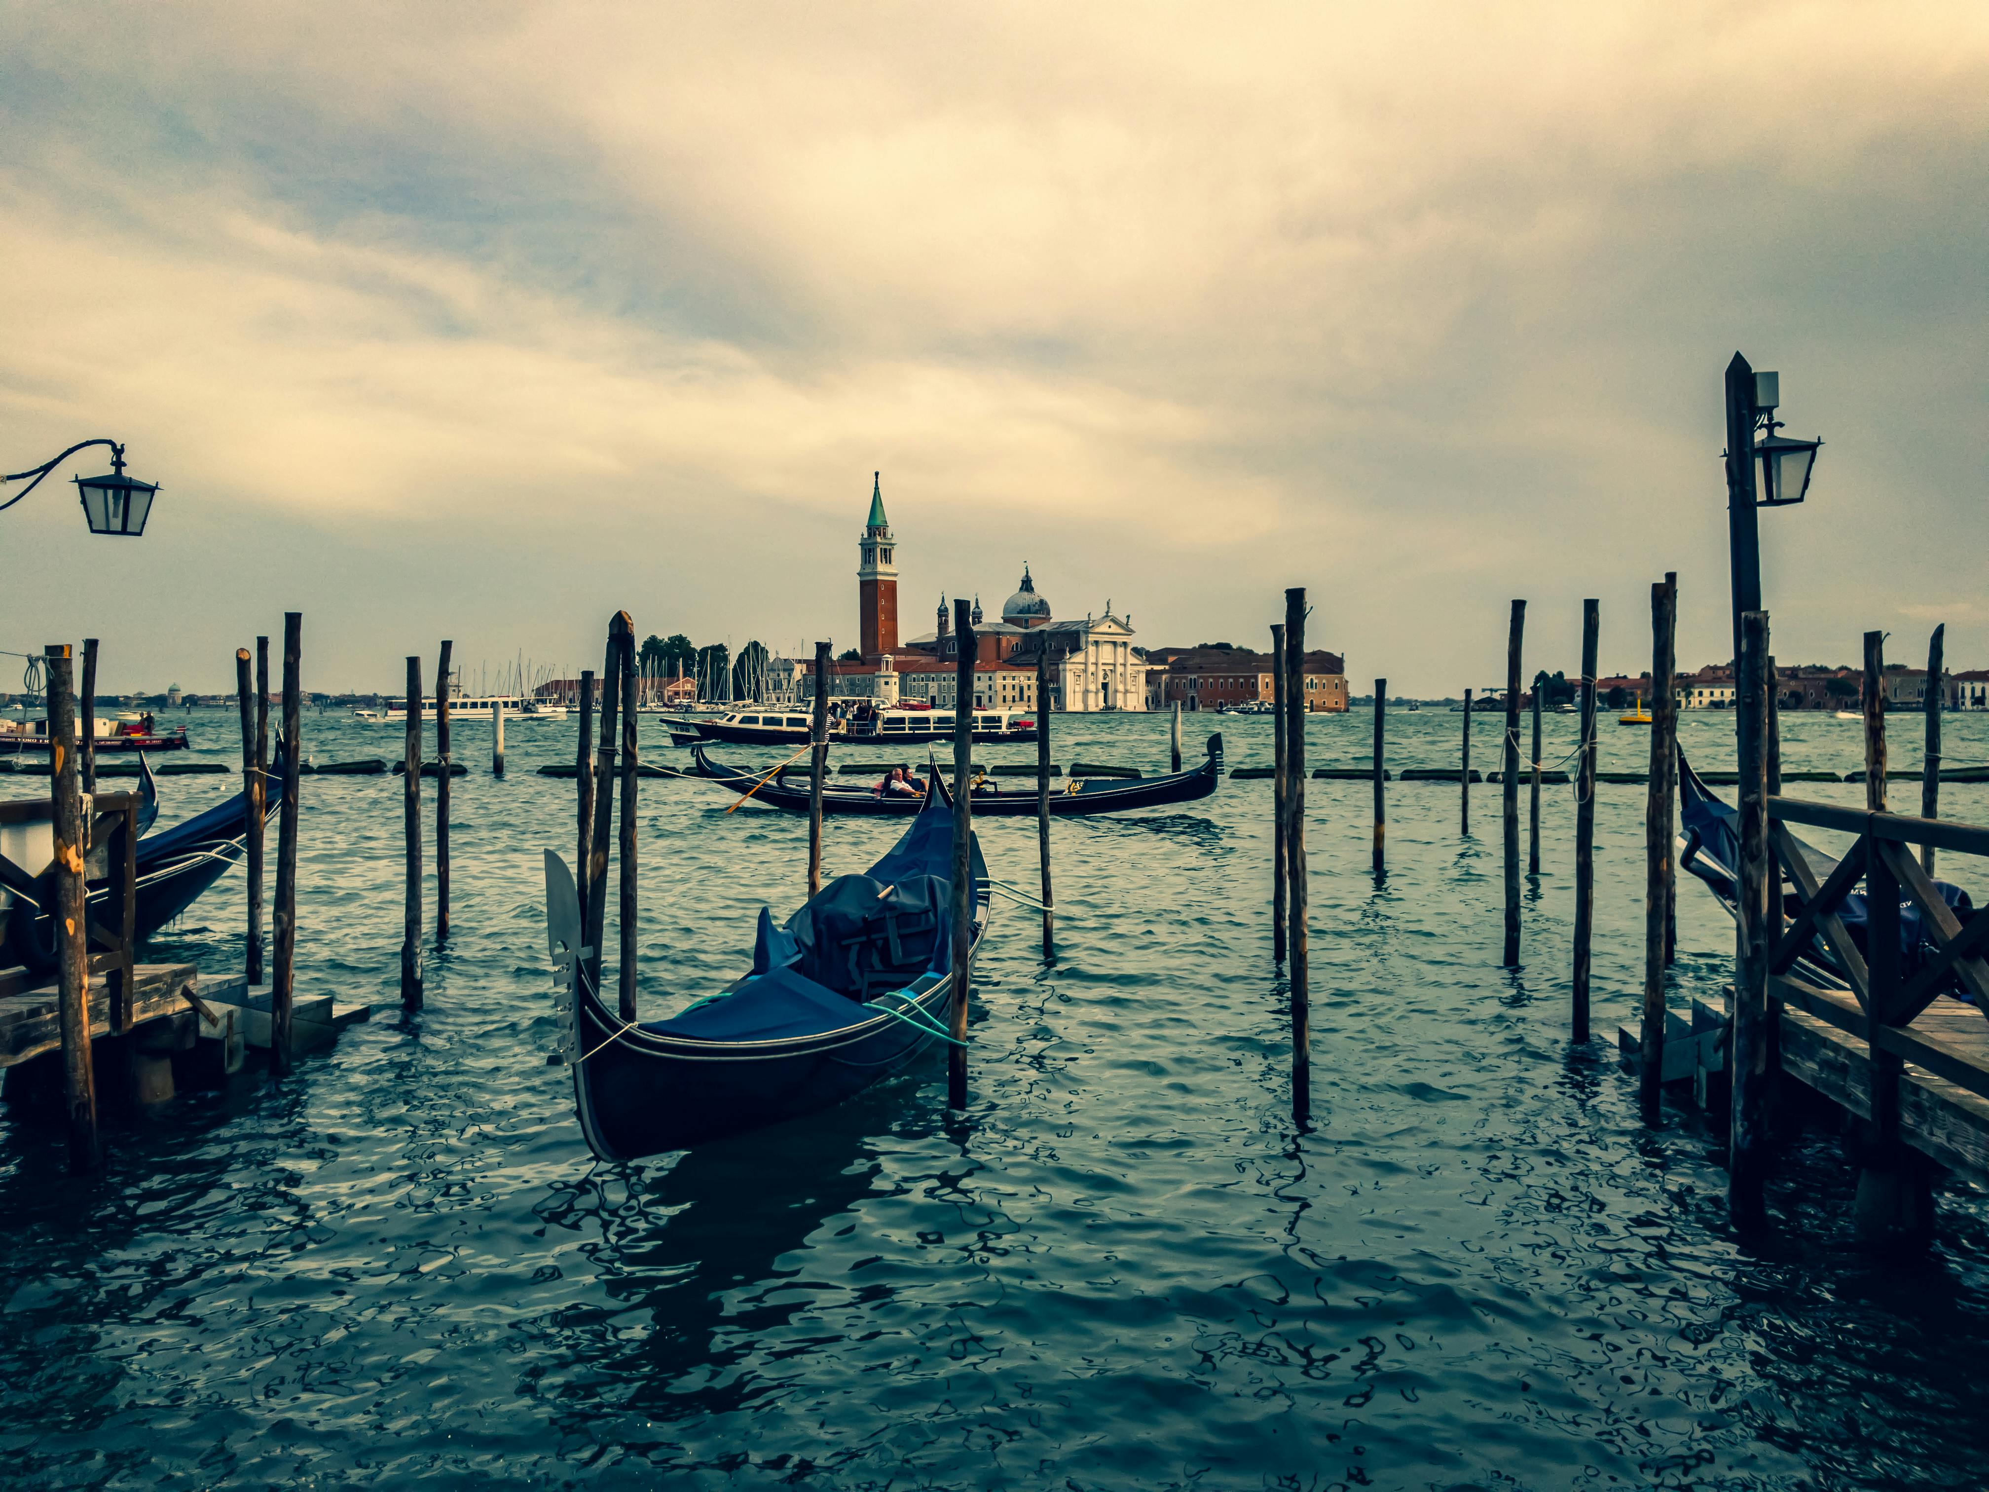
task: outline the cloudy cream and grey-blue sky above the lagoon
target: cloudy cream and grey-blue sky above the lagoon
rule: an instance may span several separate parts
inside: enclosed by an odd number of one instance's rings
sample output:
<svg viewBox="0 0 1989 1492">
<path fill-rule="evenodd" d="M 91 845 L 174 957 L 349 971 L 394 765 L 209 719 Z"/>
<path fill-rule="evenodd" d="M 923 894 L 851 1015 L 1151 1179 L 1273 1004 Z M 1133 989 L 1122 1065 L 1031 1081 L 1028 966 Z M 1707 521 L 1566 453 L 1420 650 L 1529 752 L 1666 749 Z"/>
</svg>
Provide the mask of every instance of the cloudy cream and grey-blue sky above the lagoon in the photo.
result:
<svg viewBox="0 0 1989 1492">
<path fill-rule="evenodd" d="M 1730 653 L 1720 378 L 1782 376 L 1782 662 L 1989 666 L 1989 8 L 0 6 L 0 649 L 223 690 L 599 666 L 607 619 L 993 613 L 1353 692 Z M 0 501 L 18 491 L 0 489 Z M 0 688 L 12 678 L 0 656 Z M 432 666 L 432 664 L 430 664 Z"/>
</svg>

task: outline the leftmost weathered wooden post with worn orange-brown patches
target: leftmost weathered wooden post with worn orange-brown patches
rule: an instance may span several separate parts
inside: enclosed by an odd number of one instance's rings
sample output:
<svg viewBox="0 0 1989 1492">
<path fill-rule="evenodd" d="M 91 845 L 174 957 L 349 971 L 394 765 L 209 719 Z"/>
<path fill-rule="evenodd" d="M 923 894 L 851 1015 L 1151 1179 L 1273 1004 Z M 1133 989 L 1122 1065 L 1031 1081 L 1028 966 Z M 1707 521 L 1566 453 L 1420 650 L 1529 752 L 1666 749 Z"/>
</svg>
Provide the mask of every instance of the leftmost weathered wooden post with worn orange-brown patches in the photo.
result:
<svg viewBox="0 0 1989 1492">
<path fill-rule="evenodd" d="M 82 764 L 76 750 L 76 658 L 68 643 L 50 643 L 48 736 L 50 794 L 56 808 L 56 949 L 58 1023 L 62 1028 L 62 1106 L 70 1122 L 70 1170 L 91 1172 L 97 1148 L 97 1076 L 90 1050 L 90 929 L 84 851 L 90 816 L 84 808 Z"/>
</svg>

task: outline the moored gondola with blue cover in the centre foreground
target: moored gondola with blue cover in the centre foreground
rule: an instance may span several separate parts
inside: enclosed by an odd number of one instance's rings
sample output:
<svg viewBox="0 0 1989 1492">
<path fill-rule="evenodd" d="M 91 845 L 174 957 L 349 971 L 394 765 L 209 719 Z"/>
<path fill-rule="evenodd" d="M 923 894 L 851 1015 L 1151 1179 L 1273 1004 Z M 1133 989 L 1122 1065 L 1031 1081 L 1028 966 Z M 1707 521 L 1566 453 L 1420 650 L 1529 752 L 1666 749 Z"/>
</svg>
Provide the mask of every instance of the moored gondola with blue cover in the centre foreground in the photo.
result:
<svg viewBox="0 0 1989 1492">
<path fill-rule="evenodd" d="M 993 885 L 981 845 L 973 939 Z M 636 1160 L 837 1104 L 945 1040 L 953 810 L 933 794 L 867 875 L 843 875 L 784 927 L 766 909 L 752 971 L 662 1021 L 625 1023 L 587 977 L 581 903 L 545 851 L 547 949 L 571 1015 L 567 1062 L 587 1148 Z"/>
</svg>

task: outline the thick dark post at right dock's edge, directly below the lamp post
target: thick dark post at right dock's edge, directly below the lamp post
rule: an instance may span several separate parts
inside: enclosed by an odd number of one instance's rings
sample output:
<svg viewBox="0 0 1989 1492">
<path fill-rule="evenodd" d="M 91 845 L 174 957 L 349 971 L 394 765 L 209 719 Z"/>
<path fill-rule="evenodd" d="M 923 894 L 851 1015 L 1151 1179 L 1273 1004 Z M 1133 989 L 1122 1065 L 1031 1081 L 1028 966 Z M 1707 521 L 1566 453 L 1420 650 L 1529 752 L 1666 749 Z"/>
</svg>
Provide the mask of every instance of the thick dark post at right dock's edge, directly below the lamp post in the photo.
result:
<svg viewBox="0 0 1989 1492">
<path fill-rule="evenodd" d="M 1768 853 L 1768 615 L 1740 617 L 1736 702 L 1740 718 L 1740 883 L 1734 933 L 1732 1074 L 1726 1126 L 1726 1210 L 1734 1227 L 1752 1229 L 1764 1219 L 1762 1180 L 1768 1166 L 1768 961 L 1780 911 L 1774 889 L 1780 875 Z M 1653 722 L 1655 724 L 1655 722 Z"/>
</svg>

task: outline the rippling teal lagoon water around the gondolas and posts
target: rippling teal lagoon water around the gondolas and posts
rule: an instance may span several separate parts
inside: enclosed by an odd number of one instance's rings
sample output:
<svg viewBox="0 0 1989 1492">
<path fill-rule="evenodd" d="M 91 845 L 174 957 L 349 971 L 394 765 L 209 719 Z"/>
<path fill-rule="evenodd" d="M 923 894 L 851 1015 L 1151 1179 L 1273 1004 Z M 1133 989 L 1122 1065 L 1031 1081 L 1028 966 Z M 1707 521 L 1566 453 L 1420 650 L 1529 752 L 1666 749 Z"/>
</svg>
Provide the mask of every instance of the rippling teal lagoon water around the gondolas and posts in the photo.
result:
<svg viewBox="0 0 1989 1492">
<path fill-rule="evenodd" d="M 1231 764 L 1269 756 L 1269 720 L 1189 724 L 1217 724 Z M 1390 762 L 1454 764 L 1458 724 L 1390 714 Z M 1474 724 L 1492 766 L 1498 728 Z M 227 756 L 231 716 L 191 726 Z M 1315 718 L 1311 762 L 1364 760 L 1368 726 Z M 1549 718 L 1549 760 L 1573 728 Z M 1311 782 L 1317 1096 L 1295 1132 L 1271 788 L 1223 782 L 1056 826 L 1056 963 L 1026 913 L 996 919 L 967 1114 L 935 1052 L 827 1114 L 615 1168 L 545 1064 L 539 849 L 571 857 L 573 784 L 533 768 L 571 756 L 573 722 L 513 724 L 503 782 L 487 730 L 457 728 L 477 770 L 455 782 L 457 935 L 424 1011 L 398 1007 L 400 782 L 306 778 L 298 987 L 374 1021 L 284 1082 L 115 1122 L 99 1178 L 68 1178 L 42 1122 L 0 1120 L 8 1484 L 1981 1484 L 1981 1200 L 1949 1188 L 1935 1253 L 1876 1267 L 1850 1241 L 1852 1174 L 1810 1136 L 1748 1251 L 1697 1116 L 1637 1124 L 1607 1038 L 1641 985 L 1641 788 L 1597 792 L 1587 1050 L 1565 1040 L 1567 788 L 1508 971 L 1498 788 L 1464 839 L 1454 784 L 1392 784 L 1376 881 L 1366 784 Z M 1062 762 L 1166 756 L 1158 718 L 1056 730 Z M 1728 730 L 1689 716 L 1685 746 L 1724 766 Z M 1989 720 L 1947 730 L 1949 762 L 1989 760 Z M 306 732 L 318 760 L 400 742 L 336 716 Z M 1894 738 L 1911 766 L 1917 720 Z M 1792 770 L 1854 770 L 1860 740 L 1784 722 Z M 1603 726 L 1605 768 L 1645 750 Z M 163 820 L 231 788 L 167 778 Z M 736 975 L 760 903 L 802 893 L 806 824 L 726 802 L 642 784 L 646 1011 Z M 1981 822 L 1989 788 L 1943 808 Z M 893 834 L 829 820 L 829 873 Z M 1030 881 L 1032 822 L 981 836 L 996 875 Z M 231 877 L 151 955 L 239 967 L 239 925 Z M 1685 881 L 1681 1005 L 1728 977 L 1728 927 Z"/>
</svg>

